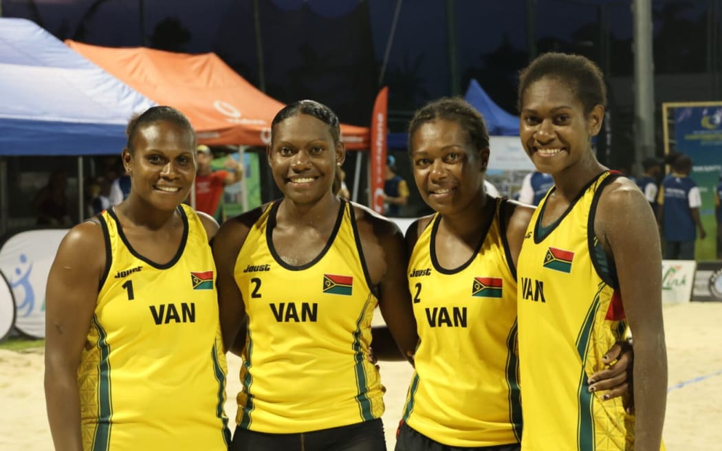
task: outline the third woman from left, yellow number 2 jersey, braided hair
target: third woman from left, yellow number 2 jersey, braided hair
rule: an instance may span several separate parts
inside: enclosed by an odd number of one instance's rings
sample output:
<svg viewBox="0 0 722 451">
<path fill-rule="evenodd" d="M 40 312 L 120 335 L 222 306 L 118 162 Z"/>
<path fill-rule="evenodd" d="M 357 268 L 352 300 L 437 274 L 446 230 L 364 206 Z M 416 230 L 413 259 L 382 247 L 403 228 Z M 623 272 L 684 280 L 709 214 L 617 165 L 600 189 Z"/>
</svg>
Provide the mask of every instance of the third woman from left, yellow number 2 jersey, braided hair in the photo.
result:
<svg viewBox="0 0 722 451">
<path fill-rule="evenodd" d="M 437 213 L 406 232 L 420 343 L 396 450 L 518 450 L 515 268 L 534 208 L 484 192 L 489 135 L 464 100 L 418 110 L 409 144 L 419 193 Z M 593 387 L 623 393 L 626 364 L 594 375 Z"/>
</svg>

